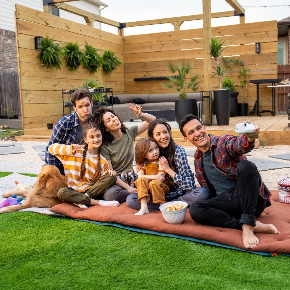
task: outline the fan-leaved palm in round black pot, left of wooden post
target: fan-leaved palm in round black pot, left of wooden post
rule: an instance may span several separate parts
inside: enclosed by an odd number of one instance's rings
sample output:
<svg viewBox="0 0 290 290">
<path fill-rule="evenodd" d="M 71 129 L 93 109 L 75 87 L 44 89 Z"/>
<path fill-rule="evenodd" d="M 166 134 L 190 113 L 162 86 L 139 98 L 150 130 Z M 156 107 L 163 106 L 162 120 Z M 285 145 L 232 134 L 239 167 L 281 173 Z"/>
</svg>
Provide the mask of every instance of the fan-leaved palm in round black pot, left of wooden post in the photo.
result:
<svg viewBox="0 0 290 290">
<path fill-rule="evenodd" d="M 196 99 L 186 99 L 190 91 L 197 92 L 202 80 L 198 80 L 199 74 L 193 74 L 194 67 L 183 59 L 179 65 L 168 63 L 168 71 L 177 73 L 177 76 L 166 76 L 167 80 L 161 82 L 161 86 L 179 93 L 179 99 L 175 100 L 175 121 L 177 123 L 187 114 L 198 116 Z"/>
</svg>

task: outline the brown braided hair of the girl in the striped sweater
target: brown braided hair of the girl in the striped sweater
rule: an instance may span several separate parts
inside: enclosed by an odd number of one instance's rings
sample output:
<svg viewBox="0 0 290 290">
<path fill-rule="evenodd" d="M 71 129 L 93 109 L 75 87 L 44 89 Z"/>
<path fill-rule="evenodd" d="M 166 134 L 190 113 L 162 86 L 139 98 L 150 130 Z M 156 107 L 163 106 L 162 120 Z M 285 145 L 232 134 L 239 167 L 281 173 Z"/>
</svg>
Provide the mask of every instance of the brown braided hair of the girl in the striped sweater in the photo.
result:
<svg viewBox="0 0 290 290">
<path fill-rule="evenodd" d="M 87 138 L 87 134 L 89 133 L 93 133 L 95 132 L 96 130 L 100 130 L 101 131 L 101 126 L 97 123 L 89 123 L 89 124 L 86 124 L 84 126 L 84 136 Z M 102 132 L 102 131 L 101 131 Z M 85 176 L 85 172 L 86 172 L 86 166 L 85 166 L 85 158 L 86 158 L 86 154 L 87 154 L 87 150 L 88 150 L 88 143 L 86 143 L 85 141 L 83 142 L 85 147 L 84 147 L 84 151 L 83 151 L 83 161 L 81 162 L 81 168 L 80 168 L 80 172 L 79 172 L 79 181 L 83 181 L 84 179 L 84 176 Z M 102 168 L 101 168 L 101 158 L 100 158 L 100 148 L 98 148 L 98 162 L 97 162 L 97 168 L 96 168 L 96 171 L 95 171 L 95 174 L 92 178 L 92 181 L 98 181 L 99 178 L 101 177 L 101 171 L 102 171 Z"/>
</svg>

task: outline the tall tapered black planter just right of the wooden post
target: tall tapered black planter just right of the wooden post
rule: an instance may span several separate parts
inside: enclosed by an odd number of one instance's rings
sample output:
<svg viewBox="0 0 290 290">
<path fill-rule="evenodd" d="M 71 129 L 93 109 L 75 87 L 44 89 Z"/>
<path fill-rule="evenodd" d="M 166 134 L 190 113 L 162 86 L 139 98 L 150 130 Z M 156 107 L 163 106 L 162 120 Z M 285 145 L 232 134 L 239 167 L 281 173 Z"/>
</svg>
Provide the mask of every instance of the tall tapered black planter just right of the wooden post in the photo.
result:
<svg viewBox="0 0 290 290">
<path fill-rule="evenodd" d="M 229 125 L 231 113 L 231 91 L 215 90 L 213 91 L 215 102 L 215 113 L 217 115 L 218 126 Z"/>
</svg>

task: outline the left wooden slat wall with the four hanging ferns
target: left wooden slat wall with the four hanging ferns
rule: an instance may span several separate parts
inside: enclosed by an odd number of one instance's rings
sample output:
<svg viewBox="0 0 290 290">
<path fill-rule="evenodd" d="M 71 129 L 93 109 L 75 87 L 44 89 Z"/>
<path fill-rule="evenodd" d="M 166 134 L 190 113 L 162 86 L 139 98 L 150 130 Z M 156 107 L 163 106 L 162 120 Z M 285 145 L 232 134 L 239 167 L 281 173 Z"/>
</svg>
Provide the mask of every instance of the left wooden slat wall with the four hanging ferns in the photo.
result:
<svg viewBox="0 0 290 290">
<path fill-rule="evenodd" d="M 18 66 L 23 129 L 39 128 L 46 123 L 54 124 L 62 117 L 62 90 L 80 86 L 86 77 L 98 79 L 101 75 L 105 86 L 113 88 L 114 94 L 124 93 L 124 68 L 121 65 L 111 74 L 102 68 L 97 73 L 80 66 L 71 71 L 63 60 L 61 70 L 40 64 L 40 50 L 35 50 L 34 37 L 48 35 L 64 46 L 67 42 L 77 42 L 85 49 L 85 42 L 96 49 L 114 50 L 123 61 L 123 39 L 99 29 L 62 19 L 60 17 L 15 5 Z M 102 55 L 102 51 L 99 52 Z M 66 101 L 66 100 L 64 100 Z M 65 113 L 69 113 L 65 110 Z"/>
</svg>

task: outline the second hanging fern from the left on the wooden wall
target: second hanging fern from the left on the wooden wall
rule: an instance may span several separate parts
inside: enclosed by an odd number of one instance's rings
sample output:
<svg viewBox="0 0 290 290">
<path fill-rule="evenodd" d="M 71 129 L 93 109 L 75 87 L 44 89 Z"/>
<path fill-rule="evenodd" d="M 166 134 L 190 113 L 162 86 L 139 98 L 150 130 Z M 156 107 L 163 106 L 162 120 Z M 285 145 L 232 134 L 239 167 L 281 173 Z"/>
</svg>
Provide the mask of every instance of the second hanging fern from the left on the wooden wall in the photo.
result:
<svg viewBox="0 0 290 290">
<path fill-rule="evenodd" d="M 86 66 L 88 58 L 79 48 L 77 42 L 69 42 L 64 47 L 64 55 L 67 59 L 68 67 L 70 70 L 76 71 L 78 67 L 82 64 Z"/>
</svg>

